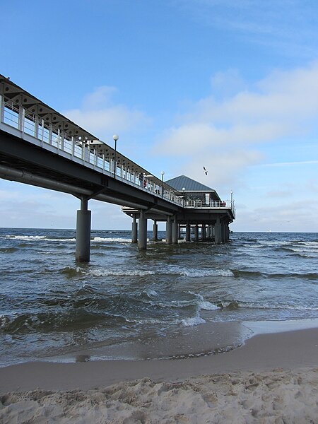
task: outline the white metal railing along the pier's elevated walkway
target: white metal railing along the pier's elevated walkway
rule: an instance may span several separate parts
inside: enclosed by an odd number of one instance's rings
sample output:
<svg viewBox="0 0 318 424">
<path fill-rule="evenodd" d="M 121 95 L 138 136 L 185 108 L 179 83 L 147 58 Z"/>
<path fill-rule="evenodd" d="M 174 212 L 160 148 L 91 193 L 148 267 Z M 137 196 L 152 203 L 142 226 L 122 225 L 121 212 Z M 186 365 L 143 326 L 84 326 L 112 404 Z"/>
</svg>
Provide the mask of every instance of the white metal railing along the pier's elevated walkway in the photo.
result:
<svg viewBox="0 0 318 424">
<path fill-rule="evenodd" d="M 43 148 L 54 150 L 57 154 L 68 153 L 71 160 L 81 160 L 83 165 L 90 165 L 93 169 L 99 172 L 106 173 L 111 177 L 122 179 L 128 184 L 142 189 L 146 192 L 151 192 L 155 196 L 161 197 L 167 201 L 177 204 L 185 208 L 231 208 L 234 213 L 232 202 L 228 201 L 211 201 L 206 202 L 200 200 L 188 199 L 186 196 L 177 195 L 172 190 L 164 188 L 163 183 L 145 177 L 141 172 L 131 171 L 129 168 L 117 163 L 114 159 L 107 158 L 104 153 L 100 154 L 96 148 L 79 137 L 73 137 L 66 134 L 58 126 L 51 122 L 45 122 L 42 117 L 35 113 L 26 110 L 21 105 L 15 105 L 11 100 L 4 101 L 4 96 L 0 95 L 0 123 L 11 126 L 20 131 L 20 137 L 25 139 L 25 134 L 28 134 L 28 141 L 33 142 Z M 116 168 L 116 169 L 115 169 Z"/>
</svg>

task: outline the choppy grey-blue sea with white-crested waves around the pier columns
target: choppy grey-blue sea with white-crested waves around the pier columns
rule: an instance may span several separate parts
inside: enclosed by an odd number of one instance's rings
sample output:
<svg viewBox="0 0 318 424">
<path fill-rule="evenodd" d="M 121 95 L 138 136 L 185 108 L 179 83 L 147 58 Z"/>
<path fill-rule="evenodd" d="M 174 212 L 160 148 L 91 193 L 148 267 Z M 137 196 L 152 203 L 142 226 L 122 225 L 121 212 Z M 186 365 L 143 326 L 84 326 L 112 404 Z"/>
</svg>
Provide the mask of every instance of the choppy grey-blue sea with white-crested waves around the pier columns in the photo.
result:
<svg viewBox="0 0 318 424">
<path fill-rule="evenodd" d="M 0 229 L 0 366 L 215 355 L 261 332 L 318 326 L 318 234 L 233 232 L 230 242 L 139 251 L 126 230 Z"/>
</svg>

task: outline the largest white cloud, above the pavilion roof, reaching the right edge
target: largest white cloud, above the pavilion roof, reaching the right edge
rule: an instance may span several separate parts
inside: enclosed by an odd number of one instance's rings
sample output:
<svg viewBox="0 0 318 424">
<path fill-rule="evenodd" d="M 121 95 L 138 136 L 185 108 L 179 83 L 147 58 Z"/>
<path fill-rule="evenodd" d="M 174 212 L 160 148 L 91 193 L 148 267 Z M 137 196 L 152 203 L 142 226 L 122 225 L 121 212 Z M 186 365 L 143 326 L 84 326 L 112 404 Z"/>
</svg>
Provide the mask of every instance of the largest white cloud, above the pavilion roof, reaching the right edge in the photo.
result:
<svg viewBox="0 0 318 424">
<path fill-rule="evenodd" d="M 317 114 L 316 62 L 303 69 L 274 71 L 225 100 L 213 95 L 198 100 L 179 117 L 179 124 L 165 131 L 154 151 L 175 156 L 187 175 L 200 180 L 205 165 L 212 170 L 206 184 L 224 185 L 231 180 L 234 184 L 246 167 L 260 163 L 264 143 L 303 138 L 317 127 Z"/>
</svg>

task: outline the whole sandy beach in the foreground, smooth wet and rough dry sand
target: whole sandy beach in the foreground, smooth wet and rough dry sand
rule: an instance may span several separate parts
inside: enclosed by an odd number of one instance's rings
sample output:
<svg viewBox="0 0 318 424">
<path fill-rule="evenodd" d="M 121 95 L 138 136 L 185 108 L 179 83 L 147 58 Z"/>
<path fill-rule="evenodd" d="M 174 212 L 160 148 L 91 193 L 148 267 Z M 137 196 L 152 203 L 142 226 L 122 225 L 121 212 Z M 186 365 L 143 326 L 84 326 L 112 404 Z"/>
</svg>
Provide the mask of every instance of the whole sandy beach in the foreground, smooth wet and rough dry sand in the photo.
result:
<svg viewBox="0 0 318 424">
<path fill-rule="evenodd" d="M 0 369 L 1 423 L 317 423 L 318 329 L 184 360 Z"/>
</svg>

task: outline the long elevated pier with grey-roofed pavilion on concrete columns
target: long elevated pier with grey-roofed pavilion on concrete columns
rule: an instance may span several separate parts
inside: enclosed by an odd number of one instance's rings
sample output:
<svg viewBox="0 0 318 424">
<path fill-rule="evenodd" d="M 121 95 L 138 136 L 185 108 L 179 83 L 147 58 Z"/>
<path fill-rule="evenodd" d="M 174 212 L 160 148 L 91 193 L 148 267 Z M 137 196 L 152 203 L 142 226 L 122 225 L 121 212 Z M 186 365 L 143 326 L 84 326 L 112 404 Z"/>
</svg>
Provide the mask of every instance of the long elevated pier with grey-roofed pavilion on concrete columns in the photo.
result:
<svg viewBox="0 0 318 424">
<path fill-rule="evenodd" d="M 164 182 L 163 175 L 134 163 L 41 100 L 0 75 L 0 177 L 76 196 L 76 260 L 90 260 L 90 199 L 122 206 L 131 216 L 131 242 L 147 248 L 148 220 L 153 240 L 165 222 L 167 244 L 185 239 L 228 242 L 235 219 L 232 196 L 184 175 Z"/>
</svg>

